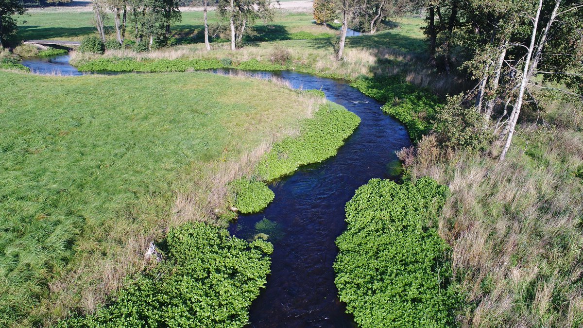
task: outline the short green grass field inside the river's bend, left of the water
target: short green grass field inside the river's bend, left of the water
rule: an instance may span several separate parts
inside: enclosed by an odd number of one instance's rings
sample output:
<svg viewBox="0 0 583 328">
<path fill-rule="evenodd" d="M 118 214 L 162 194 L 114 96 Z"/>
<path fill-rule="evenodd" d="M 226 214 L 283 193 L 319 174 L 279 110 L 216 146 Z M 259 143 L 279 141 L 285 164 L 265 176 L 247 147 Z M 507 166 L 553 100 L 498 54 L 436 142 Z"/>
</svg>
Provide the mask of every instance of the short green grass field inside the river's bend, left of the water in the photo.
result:
<svg viewBox="0 0 583 328">
<path fill-rule="evenodd" d="M 177 194 L 310 111 L 274 83 L 201 72 L 0 72 L 0 94 L 2 327 L 91 311 L 139 270 Z"/>
</svg>

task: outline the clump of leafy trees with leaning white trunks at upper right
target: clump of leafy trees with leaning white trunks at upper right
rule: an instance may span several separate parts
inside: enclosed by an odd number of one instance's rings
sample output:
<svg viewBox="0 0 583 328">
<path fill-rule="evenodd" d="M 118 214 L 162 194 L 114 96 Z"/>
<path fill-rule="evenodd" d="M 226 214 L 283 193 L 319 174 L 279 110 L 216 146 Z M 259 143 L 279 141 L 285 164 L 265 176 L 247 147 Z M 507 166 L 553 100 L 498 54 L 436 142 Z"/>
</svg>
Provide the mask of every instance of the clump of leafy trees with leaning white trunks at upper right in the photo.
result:
<svg viewBox="0 0 583 328">
<path fill-rule="evenodd" d="M 426 20 L 430 64 L 477 81 L 463 100 L 501 160 L 525 106 L 537 109 L 540 95 L 583 99 L 581 0 L 430 1 Z"/>
</svg>

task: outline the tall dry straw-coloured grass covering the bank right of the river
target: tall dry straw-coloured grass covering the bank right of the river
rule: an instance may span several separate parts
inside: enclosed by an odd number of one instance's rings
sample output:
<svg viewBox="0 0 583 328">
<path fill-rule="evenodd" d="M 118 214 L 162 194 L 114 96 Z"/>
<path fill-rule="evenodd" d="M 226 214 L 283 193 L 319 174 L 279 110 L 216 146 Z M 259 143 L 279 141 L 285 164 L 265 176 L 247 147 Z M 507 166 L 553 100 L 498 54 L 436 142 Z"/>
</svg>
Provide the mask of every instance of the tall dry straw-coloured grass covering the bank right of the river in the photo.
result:
<svg viewBox="0 0 583 328">
<path fill-rule="evenodd" d="M 463 327 L 583 324 L 583 135 L 550 133 L 502 163 L 444 154 L 433 136 L 399 153 L 412 179 L 451 190 L 438 231 L 468 302 Z"/>
</svg>

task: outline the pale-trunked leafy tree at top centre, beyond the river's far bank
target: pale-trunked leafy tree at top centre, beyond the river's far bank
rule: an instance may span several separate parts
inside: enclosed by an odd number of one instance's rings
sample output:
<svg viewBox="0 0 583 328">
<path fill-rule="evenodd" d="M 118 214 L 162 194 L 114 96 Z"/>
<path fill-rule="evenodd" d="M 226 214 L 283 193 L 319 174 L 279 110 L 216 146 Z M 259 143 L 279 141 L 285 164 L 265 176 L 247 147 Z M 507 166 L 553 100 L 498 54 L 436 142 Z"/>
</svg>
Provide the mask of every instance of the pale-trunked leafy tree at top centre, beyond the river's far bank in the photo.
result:
<svg viewBox="0 0 583 328">
<path fill-rule="evenodd" d="M 264 22 L 273 20 L 270 0 L 219 0 L 217 12 L 223 19 L 229 19 L 231 50 L 243 45 L 243 36 L 257 19 Z"/>
</svg>

